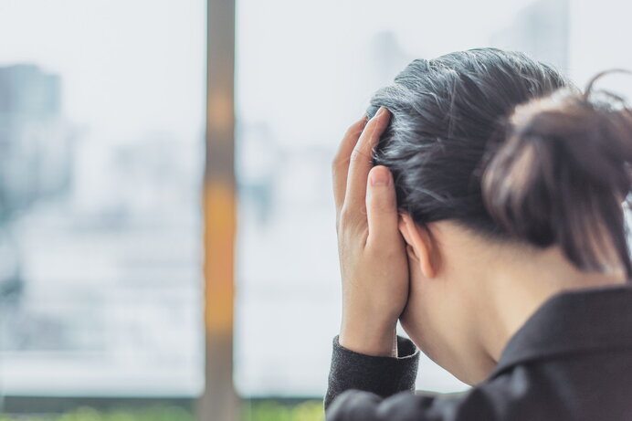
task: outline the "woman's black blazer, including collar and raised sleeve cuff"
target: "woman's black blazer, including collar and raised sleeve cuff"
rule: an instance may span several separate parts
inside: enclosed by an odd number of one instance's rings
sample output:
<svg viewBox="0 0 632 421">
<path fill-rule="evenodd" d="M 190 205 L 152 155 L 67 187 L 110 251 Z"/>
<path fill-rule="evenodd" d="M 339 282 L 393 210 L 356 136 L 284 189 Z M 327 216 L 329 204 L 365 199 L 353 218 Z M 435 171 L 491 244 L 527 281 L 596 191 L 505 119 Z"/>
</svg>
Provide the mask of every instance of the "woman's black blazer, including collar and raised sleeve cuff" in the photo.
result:
<svg viewBox="0 0 632 421">
<path fill-rule="evenodd" d="M 463 394 L 411 393 L 419 350 L 397 341 L 395 358 L 353 353 L 333 339 L 328 421 L 632 420 L 632 284 L 545 301 L 490 377 Z"/>
</svg>

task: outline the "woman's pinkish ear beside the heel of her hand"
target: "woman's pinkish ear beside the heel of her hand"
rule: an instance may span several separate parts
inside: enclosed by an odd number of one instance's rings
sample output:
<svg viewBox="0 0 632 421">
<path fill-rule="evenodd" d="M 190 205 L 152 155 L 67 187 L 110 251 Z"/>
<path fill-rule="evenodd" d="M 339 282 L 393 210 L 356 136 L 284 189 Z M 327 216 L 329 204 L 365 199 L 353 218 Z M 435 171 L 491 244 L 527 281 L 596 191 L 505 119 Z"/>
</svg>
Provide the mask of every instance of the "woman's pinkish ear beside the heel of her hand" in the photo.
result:
<svg viewBox="0 0 632 421">
<path fill-rule="evenodd" d="M 399 231 L 406 241 L 408 256 L 413 258 L 426 278 L 437 276 L 434 238 L 426 226 L 418 226 L 407 213 L 399 214 Z"/>
</svg>

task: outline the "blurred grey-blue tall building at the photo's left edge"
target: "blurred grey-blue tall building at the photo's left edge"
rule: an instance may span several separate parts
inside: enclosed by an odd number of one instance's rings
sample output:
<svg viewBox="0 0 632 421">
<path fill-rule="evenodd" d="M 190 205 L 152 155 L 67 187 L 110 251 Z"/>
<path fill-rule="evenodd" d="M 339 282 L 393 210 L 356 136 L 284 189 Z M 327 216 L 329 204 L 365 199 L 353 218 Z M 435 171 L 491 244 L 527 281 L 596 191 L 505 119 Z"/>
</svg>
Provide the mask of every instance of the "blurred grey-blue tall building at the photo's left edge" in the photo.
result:
<svg viewBox="0 0 632 421">
<path fill-rule="evenodd" d="M 0 218 L 68 190 L 71 156 L 61 79 L 35 65 L 0 68 Z"/>
</svg>

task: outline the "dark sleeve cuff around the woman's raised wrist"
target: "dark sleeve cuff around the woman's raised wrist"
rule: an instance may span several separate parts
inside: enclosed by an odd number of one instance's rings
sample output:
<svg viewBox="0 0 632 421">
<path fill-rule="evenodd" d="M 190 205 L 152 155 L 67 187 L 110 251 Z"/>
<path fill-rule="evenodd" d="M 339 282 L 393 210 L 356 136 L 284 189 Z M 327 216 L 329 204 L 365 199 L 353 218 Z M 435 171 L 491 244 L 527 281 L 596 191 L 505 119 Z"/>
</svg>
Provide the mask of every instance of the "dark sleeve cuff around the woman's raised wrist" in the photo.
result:
<svg viewBox="0 0 632 421">
<path fill-rule="evenodd" d="M 372 392 L 387 397 L 402 391 L 415 391 L 419 364 L 415 343 L 397 336 L 397 357 L 355 353 L 333 338 L 332 367 L 325 405 L 348 389 Z"/>
</svg>

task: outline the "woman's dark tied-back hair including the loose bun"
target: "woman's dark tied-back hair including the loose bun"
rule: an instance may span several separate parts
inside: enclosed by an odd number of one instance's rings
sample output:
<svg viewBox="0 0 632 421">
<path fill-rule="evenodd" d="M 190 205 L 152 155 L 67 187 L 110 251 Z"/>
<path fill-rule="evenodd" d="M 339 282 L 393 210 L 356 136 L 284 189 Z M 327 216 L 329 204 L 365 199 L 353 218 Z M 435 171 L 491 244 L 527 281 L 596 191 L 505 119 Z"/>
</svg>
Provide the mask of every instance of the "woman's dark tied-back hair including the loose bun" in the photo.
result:
<svg viewBox="0 0 632 421">
<path fill-rule="evenodd" d="M 594 81 L 594 80 L 593 80 Z M 374 164 L 418 224 L 452 219 L 490 238 L 559 244 L 575 266 L 632 276 L 622 203 L 632 112 L 583 94 L 523 53 L 475 48 L 416 59 L 379 89 L 391 123 Z"/>
</svg>

